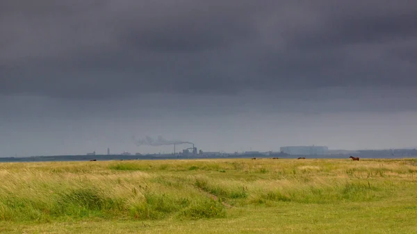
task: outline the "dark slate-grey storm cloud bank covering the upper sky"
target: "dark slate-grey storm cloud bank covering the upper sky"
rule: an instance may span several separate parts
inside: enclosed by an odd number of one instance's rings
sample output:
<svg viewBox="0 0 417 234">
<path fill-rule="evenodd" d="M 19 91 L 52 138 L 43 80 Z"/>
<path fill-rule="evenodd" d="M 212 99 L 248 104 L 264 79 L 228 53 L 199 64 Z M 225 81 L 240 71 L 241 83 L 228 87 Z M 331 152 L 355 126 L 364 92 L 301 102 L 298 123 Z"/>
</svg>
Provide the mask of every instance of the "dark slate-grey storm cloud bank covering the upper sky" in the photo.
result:
<svg viewBox="0 0 417 234">
<path fill-rule="evenodd" d="M 1 1 L 0 92 L 417 87 L 416 1 Z"/>
</svg>

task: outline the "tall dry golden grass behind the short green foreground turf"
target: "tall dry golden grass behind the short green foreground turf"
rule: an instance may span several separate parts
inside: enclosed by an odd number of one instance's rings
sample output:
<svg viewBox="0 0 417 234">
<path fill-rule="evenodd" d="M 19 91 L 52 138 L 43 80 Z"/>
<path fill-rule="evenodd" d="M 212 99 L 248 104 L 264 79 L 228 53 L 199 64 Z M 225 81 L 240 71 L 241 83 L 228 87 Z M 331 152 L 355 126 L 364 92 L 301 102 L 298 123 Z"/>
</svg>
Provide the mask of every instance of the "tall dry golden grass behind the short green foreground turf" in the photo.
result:
<svg viewBox="0 0 417 234">
<path fill-rule="evenodd" d="M 234 207 L 412 196 L 417 160 L 3 163 L 0 181 L 0 221 L 221 218 Z"/>
</svg>

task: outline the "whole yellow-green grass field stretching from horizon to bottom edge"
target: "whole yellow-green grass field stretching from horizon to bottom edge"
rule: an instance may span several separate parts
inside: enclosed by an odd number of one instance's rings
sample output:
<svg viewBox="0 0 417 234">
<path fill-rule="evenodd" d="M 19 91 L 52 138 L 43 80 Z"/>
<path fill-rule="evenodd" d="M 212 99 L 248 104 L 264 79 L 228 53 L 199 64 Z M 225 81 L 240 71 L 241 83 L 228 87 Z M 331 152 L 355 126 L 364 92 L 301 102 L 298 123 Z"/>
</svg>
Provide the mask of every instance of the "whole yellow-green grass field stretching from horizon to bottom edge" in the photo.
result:
<svg viewBox="0 0 417 234">
<path fill-rule="evenodd" d="M 0 233 L 417 233 L 417 160 L 3 163 Z"/>
</svg>

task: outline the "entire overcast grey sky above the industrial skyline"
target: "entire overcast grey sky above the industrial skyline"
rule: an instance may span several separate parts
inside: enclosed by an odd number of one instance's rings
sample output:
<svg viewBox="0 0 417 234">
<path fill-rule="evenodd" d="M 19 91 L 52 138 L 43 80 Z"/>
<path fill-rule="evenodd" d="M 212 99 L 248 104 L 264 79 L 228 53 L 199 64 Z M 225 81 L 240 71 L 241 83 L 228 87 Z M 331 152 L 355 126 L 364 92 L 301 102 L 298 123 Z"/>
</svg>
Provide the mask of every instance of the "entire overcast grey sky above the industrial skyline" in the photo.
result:
<svg viewBox="0 0 417 234">
<path fill-rule="evenodd" d="M 416 74 L 417 1 L 3 0 L 0 156 L 417 147 Z"/>
</svg>

